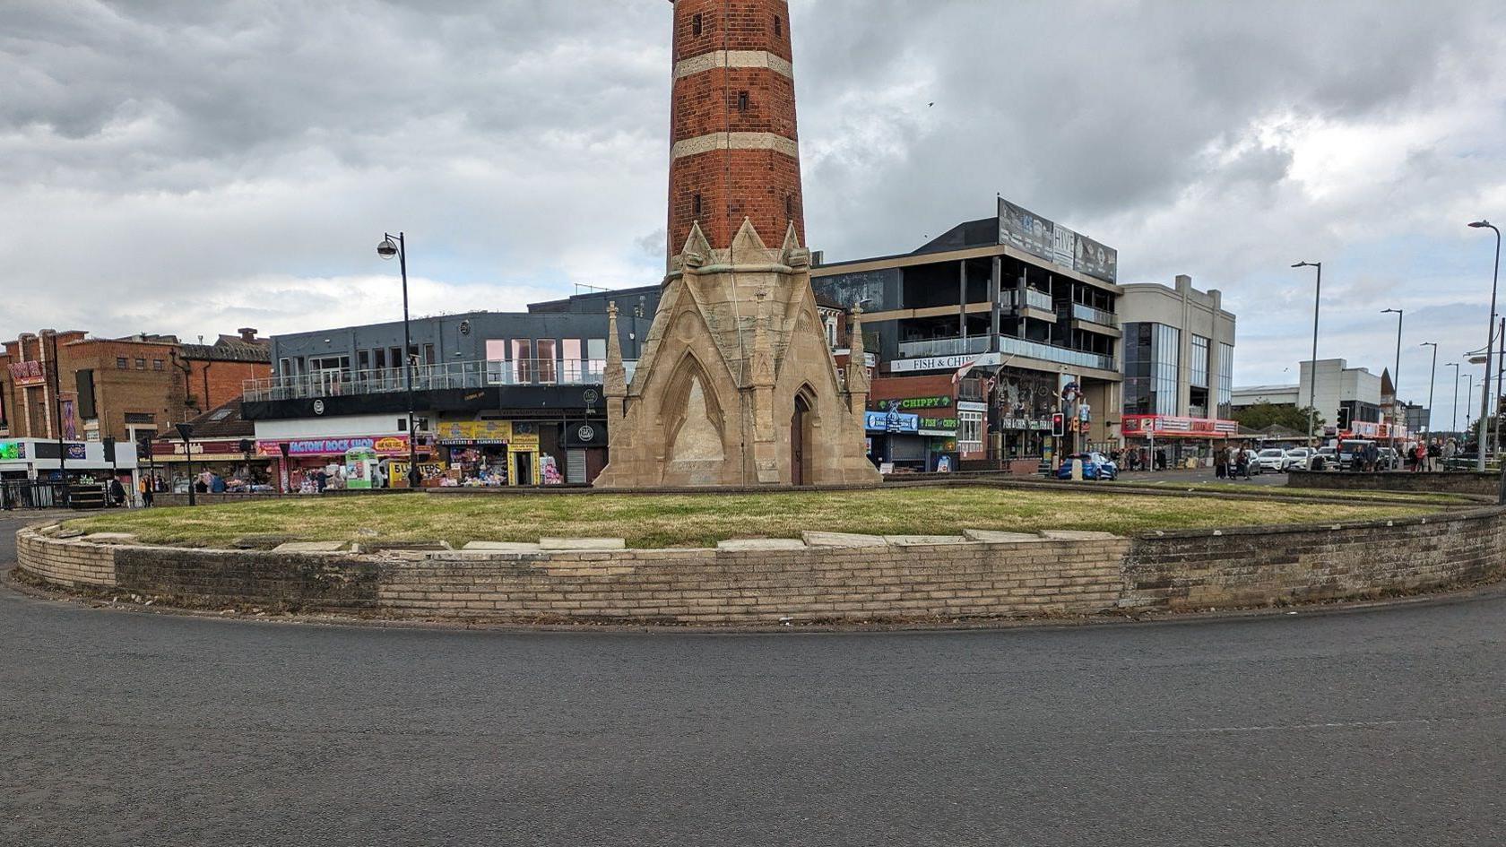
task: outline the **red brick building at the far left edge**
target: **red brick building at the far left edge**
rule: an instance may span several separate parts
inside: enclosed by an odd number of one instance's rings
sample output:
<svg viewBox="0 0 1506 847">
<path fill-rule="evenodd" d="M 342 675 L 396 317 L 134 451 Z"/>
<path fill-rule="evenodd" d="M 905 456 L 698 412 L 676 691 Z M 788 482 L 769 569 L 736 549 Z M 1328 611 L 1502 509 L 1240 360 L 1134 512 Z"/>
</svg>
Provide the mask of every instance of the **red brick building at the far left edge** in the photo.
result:
<svg viewBox="0 0 1506 847">
<path fill-rule="evenodd" d="M 270 375 L 267 342 L 252 329 L 211 345 L 24 333 L 0 354 L 0 437 L 57 439 L 60 419 L 69 440 L 137 442 L 238 398 L 242 380 Z"/>
</svg>

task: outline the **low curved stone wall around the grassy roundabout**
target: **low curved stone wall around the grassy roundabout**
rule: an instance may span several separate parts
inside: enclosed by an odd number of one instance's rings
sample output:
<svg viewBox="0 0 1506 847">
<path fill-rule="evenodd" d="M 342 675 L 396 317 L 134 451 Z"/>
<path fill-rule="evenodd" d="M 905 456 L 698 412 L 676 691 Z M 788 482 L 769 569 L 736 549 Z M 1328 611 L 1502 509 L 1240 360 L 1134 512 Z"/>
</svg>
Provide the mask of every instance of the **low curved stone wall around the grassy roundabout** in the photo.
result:
<svg viewBox="0 0 1506 847">
<path fill-rule="evenodd" d="M 1337 526 L 837 537 L 708 550 L 191 550 L 18 534 L 21 568 L 176 606 L 426 619 L 779 624 L 1270 606 L 1506 574 L 1506 509 Z M 515 546 L 517 547 L 517 546 Z"/>
</svg>

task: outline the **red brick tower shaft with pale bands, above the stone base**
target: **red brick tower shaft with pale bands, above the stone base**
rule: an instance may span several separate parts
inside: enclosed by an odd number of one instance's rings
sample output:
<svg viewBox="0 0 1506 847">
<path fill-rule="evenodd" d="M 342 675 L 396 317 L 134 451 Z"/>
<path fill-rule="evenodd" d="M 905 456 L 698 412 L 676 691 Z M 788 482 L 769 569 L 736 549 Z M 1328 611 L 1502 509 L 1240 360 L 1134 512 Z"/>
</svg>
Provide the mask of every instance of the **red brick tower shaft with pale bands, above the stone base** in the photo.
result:
<svg viewBox="0 0 1506 847">
<path fill-rule="evenodd" d="M 786 0 L 675 3 L 669 255 L 693 222 L 715 250 L 742 220 L 768 244 L 806 243 Z"/>
</svg>

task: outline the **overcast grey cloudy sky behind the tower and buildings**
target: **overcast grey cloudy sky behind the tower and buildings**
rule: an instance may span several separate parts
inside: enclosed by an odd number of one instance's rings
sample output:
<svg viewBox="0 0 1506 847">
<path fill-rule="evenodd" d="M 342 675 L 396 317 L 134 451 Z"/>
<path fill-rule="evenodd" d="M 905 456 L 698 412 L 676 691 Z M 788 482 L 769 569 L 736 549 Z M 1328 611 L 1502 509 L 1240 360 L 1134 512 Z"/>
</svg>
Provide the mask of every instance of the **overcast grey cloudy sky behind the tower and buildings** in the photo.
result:
<svg viewBox="0 0 1506 847">
<path fill-rule="evenodd" d="M 1506 225 L 1491 3 L 794 0 L 807 229 L 898 253 L 994 193 L 1193 276 L 1236 384 L 1319 354 L 1402 393 L 1485 341 Z M 187 339 L 517 309 L 663 274 L 663 0 L 0 0 L 0 336 Z M 928 105 L 934 102 L 935 105 Z M 1449 383 L 1452 380 L 1443 380 Z M 1452 384 L 1438 390 L 1440 414 Z"/>
</svg>

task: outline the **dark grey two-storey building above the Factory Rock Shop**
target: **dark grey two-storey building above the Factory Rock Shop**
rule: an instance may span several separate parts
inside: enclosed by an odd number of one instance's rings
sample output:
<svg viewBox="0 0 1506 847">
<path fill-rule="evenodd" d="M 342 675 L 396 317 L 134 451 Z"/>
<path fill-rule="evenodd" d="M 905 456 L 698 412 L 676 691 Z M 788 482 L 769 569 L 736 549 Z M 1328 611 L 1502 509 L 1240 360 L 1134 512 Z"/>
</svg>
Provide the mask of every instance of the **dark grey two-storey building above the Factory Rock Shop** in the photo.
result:
<svg viewBox="0 0 1506 847">
<path fill-rule="evenodd" d="M 244 386 L 241 414 L 283 488 L 351 449 L 378 454 L 395 485 L 411 454 L 428 485 L 533 485 L 551 469 L 589 482 L 607 461 L 607 306 L 619 306 L 619 344 L 636 360 L 658 297 L 648 286 L 414 318 L 407 357 L 402 321 L 279 335 L 276 374 Z"/>
</svg>

